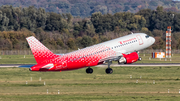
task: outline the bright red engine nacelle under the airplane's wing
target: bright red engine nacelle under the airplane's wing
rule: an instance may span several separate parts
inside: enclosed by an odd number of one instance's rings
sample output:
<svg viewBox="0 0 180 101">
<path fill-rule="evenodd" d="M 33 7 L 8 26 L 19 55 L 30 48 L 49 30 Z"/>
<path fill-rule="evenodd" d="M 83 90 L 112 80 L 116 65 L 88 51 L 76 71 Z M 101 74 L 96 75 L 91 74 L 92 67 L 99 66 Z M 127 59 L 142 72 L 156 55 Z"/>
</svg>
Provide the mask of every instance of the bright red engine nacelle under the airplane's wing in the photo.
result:
<svg viewBox="0 0 180 101">
<path fill-rule="evenodd" d="M 130 64 L 134 63 L 139 59 L 139 55 L 136 52 L 132 52 L 130 54 L 123 54 L 123 57 L 121 57 L 118 61 L 119 64 Z"/>
</svg>

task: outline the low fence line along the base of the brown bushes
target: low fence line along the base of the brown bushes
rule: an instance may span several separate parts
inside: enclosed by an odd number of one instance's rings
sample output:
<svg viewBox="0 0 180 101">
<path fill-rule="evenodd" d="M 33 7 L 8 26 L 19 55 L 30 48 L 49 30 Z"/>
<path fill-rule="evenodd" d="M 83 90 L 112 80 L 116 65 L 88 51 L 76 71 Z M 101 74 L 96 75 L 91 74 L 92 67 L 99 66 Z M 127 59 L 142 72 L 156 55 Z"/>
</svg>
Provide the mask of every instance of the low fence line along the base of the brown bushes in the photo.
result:
<svg viewBox="0 0 180 101">
<path fill-rule="evenodd" d="M 51 50 L 55 54 L 65 54 L 74 50 Z M 152 52 L 165 52 L 165 49 L 145 49 L 141 54 L 151 54 Z M 180 54 L 180 50 L 172 50 L 172 54 Z M 0 55 L 32 55 L 31 50 L 0 50 Z"/>
</svg>

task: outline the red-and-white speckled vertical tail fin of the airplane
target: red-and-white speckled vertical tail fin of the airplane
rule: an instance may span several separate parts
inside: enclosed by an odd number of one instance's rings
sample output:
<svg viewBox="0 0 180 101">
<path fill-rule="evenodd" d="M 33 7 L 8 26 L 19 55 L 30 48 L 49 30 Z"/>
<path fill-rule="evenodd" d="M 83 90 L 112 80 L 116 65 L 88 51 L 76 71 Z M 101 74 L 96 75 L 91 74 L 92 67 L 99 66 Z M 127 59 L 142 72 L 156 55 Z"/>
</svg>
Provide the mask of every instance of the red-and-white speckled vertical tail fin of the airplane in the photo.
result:
<svg viewBox="0 0 180 101">
<path fill-rule="evenodd" d="M 28 41 L 28 44 L 34 55 L 34 58 L 38 64 L 42 63 L 44 60 L 58 57 L 58 55 L 51 52 L 41 42 L 39 42 L 34 36 L 28 37 L 26 38 L 26 40 Z"/>
</svg>

